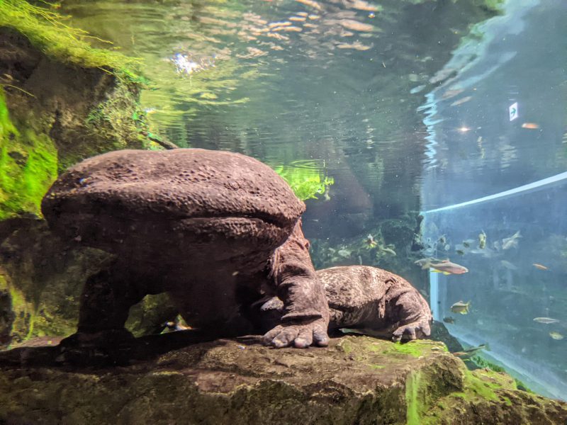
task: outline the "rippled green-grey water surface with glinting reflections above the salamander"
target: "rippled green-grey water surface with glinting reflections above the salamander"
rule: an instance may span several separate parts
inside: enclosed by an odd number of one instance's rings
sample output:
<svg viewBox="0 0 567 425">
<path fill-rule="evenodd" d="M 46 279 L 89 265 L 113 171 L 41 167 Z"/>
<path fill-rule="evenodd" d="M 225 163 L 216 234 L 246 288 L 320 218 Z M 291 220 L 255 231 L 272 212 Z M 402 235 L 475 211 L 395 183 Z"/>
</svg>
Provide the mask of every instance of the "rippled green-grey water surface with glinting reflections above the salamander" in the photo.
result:
<svg viewBox="0 0 567 425">
<path fill-rule="evenodd" d="M 485 18 L 409 3 L 77 1 L 64 12 L 145 60 L 154 87 L 142 102 L 172 142 L 269 164 L 320 160 L 336 196 L 369 198 L 371 219 L 419 209 L 427 132 L 416 109 Z"/>
</svg>

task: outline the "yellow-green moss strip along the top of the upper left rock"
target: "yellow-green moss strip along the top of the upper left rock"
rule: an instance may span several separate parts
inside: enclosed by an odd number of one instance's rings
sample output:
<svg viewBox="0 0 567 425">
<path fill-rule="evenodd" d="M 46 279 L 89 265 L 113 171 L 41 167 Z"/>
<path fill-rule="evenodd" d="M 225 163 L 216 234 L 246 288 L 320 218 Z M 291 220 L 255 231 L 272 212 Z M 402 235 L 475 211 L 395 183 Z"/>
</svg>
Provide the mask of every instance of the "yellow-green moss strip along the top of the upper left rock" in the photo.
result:
<svg viewBox="0 0 567 425">
<path fill-rule="evenodd" d="M 62 16 L 47 8 L 33 6 L 24 0 L 1 0 L 0 27 L 22 33 L 45 55 L 62 62 L 113 72 L 123 70 L 125 77 L 139 78 L 125 71 L 139 60 L 113 50 L 94 49 L 86 42 L 92 37 L 83 30 L 65 25 Z"/>
</svg>

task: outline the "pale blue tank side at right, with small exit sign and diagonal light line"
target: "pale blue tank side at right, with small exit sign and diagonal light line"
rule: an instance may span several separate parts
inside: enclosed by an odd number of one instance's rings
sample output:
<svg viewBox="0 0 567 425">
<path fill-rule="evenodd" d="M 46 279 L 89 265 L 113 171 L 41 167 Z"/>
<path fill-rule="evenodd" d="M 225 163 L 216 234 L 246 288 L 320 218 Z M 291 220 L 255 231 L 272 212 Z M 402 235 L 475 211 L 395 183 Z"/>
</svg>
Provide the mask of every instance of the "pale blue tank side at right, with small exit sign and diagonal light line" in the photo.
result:
<svg viewBox="0 0 567 425">
<path fill-rule="evenodd" d="M 422 185 L 434 319 L 542 394 L 567 398 L 565 4 L 510 2 L 427 94 Z M 554 40 L 554 42 L 549 42 Z M 556 41 L 556 42 L 555 42 Z M 471 46 L 474 47 L 471 49 Z M 433 270 L 433 269 L 432 269 Z M 468 312 L 451 309 L 469 303 Z M 452 311 L 451 311 L 452 310 Z"/>
</svg>

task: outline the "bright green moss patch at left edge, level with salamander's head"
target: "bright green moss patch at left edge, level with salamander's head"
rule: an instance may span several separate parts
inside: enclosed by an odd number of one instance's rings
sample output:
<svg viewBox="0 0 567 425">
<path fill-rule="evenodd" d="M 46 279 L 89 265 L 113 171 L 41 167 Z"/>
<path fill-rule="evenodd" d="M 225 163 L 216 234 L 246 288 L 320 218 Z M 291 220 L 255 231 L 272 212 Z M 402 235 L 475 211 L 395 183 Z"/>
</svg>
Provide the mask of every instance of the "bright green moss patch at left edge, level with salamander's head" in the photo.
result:
<svg viewBox="0 0 567 425">
<path fill-rule="evenodd" d="M 41 198 L 56 177 L 52 140 L 11 121 L 0 88 L 0 220 L 23 212 L 41 215 Z"/>
</svg>

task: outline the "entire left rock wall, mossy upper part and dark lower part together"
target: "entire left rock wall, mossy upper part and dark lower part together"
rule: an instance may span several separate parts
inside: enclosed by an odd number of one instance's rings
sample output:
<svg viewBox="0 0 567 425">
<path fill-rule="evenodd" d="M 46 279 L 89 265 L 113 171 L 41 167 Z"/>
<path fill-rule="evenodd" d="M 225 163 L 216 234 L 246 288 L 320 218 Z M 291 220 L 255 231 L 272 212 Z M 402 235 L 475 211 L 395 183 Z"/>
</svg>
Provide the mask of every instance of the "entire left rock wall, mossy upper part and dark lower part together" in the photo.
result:
<svg viewBox="0 0 567 425">
<path fill-rule="evenodd" d="M 92 48 L 42 5 L 0 1 L 0 292 L 12 310 L 0 338 L 13 342 L 73 331 L 80 283 L 103 257 L 37 220 L 47 188 L 80 159 L 149 143 L 135 60 Z"/>
</svg>

